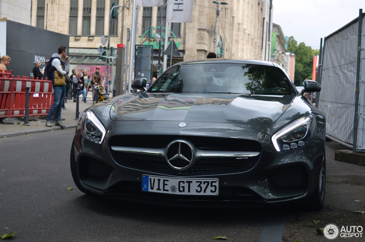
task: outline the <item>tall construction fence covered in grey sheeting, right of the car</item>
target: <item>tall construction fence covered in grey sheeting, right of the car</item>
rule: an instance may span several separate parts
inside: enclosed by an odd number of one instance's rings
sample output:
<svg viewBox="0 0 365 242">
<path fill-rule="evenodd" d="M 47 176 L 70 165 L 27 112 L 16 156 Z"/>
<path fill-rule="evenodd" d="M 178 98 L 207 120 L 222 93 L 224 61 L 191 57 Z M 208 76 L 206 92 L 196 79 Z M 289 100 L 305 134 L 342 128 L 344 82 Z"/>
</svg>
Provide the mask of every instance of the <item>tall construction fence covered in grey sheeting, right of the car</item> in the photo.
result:
<svg viewBox="0 0 365 242">
<path fill-rule="evenodd" d="M 355 143 L 356 150 L 365 150 L 365 18 L 361 11 L 357 19 L 324 38 L 318 101 L 326 114 L 327 137 L 348 147 Z"/>
</svg>

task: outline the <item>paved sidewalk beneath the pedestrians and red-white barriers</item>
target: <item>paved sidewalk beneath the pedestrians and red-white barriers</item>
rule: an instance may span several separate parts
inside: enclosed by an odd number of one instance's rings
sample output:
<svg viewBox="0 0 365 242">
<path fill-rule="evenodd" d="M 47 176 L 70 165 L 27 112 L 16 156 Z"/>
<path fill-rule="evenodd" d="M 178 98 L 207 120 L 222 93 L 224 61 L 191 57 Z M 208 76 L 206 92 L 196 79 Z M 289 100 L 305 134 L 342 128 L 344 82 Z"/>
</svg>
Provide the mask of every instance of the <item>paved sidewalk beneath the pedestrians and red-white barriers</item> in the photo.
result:
<svg viewBox="0 0 365 242">
<path fill-rule="evenodd" d="M 78 111 L 80 114 L 88 107 L 92 106 L 92 98 L 87 98 L 87 103 L 81 101 L 82 96 L 79 99 Z M 65 118 L 62 123 L 66 126 L 64 129 L 76 128 L 76 103 L 73 100 L 67 100 L 65 103 L 66 110 L 62 110 L 61 117 Z M 80 117 L 80 114 L 78 115 Z M 0 122 L 0 138 L 14 137 L 26 134 L 37 134 L 48 131 L 61 130 L 61 127 L 55 126 L 52 123 L 52 127 L 46 127 L 46 116 L 45 119 L 38 119 L 38 121 L 29 121 L 29 126 L 23 126 L 24 121 L 19 120 L 19 125 L 15 124 L 3 124 Z M 15 117 L 19 118 L 19 117 Z"/>
</svg>

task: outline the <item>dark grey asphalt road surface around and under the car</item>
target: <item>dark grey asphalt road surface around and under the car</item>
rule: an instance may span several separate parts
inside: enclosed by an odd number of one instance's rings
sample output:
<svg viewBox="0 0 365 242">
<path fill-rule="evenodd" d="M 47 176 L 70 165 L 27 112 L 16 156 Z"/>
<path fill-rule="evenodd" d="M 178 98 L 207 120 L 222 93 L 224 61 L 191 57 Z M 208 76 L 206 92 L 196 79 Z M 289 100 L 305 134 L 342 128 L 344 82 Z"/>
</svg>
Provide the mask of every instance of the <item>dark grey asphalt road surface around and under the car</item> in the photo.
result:
<svg viewBox="0 0 365 242">
<path fill-rule="evenodd" d="M 6 241 L 202 242 L 225 235 L 236 242 L 303 242 L 327 241 L 314 233 L 327 223 L 365 227 L 365 214 L 354 213 L 365 211 L 365 167 L 335 161 L 334 150 L 345 148 L 334 142 L 326 144 L 327 192 L 320 211 L 179 209 L 81 193 L 69 168 L 73 135 L 62 130 L 0 139 L 0 234 L 19 231 Z"/>
</svg>

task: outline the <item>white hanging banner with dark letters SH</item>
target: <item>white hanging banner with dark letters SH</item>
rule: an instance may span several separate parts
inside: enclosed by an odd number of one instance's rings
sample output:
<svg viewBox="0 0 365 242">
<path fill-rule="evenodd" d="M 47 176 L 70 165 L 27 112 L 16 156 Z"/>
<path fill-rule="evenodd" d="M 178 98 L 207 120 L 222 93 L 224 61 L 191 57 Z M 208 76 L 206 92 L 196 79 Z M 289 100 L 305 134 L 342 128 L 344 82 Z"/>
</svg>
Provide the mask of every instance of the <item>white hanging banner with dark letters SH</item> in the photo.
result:
<svg viewBox="0 0 365 242">
<path fill-rule="evenodd" d="M 170 23 L 192 23 L 193 0 L 168 0 L 167 19 Z"/>
</svg>

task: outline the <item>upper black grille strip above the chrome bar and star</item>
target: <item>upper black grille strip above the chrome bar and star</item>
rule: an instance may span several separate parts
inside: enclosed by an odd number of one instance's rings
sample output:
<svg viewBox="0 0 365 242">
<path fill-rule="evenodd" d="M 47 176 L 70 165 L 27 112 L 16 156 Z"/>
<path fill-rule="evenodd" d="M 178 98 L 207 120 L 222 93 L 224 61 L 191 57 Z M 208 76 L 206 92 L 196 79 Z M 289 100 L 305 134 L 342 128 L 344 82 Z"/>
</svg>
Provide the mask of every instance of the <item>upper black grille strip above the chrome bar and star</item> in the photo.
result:
<svg viewBox="0 0 365 242">
<path fill-rule="evenodd" d="M 110 146 L 165 148 L 170 142 L 176 139 L 187 140 L 200 150 L 261 152 L 260 143 L 254 140 L 211 136 L 119 135 L 113 136 L 110 139 L 109 144 Z"/>
</svg>

